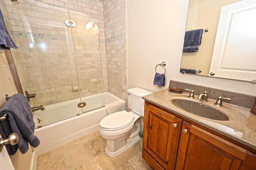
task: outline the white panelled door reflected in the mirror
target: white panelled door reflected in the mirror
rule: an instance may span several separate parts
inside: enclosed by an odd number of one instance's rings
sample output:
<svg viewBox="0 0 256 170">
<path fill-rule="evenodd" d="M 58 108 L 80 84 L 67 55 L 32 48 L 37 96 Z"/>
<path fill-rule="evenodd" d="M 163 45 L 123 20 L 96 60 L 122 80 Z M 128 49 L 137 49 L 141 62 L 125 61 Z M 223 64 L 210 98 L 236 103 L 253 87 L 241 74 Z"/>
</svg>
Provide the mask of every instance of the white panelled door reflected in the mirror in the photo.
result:
<svg viewBox="0 0 256 170">
<path fill-rule="evenodd" d="M 256 1 L 222 7 L 210 73 L 216 77 L 256 79 Z"/>
</svg>

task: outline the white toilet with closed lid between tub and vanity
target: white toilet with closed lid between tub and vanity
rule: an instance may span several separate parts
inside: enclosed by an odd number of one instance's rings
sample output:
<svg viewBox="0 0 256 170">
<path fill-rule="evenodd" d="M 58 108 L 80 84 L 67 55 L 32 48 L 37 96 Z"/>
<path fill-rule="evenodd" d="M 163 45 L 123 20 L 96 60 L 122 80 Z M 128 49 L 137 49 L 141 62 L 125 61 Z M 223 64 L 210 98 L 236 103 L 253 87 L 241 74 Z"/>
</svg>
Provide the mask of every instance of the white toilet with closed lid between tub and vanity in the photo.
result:
<svg viewBox="0 0 256 170">
<path fill-rule="evenodd" d="M 132 111 L 118 111 L 100 121 L 100 135 L 106 139 L 105 152 L 108 156 L 117 156 L 139 141 L 140 118 L 144 116 L 142 96 L 151 93 L 138 87 L 129 89 L 128 107 Z"/>
</svg>

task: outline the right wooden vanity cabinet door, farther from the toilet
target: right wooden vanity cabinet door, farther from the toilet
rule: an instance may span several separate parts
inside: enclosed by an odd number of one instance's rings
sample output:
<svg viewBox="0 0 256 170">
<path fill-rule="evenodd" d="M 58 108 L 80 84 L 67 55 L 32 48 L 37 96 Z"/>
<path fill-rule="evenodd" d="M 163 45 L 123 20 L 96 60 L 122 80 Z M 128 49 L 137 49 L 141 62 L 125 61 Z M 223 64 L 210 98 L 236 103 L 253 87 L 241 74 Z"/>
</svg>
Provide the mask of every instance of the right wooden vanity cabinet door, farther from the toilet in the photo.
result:
<svg viewBox="0 0 256 170">
<path fill-rule="evenodd" d="M 183 122 L 177 170 L 238 170 L 245 157 L 244 149 Z"/>
</svg>

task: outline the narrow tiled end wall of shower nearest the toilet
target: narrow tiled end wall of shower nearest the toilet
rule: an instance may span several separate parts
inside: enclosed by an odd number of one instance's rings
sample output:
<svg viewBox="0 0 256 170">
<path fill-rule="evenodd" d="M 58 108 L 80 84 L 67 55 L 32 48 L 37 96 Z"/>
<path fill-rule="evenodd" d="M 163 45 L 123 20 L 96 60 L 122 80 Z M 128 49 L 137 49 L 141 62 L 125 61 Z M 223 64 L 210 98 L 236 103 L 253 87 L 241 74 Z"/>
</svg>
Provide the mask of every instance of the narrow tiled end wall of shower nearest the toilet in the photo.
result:
<svg viewBox="0 0 256 170">
<path fill-rule="evenodd" d="M 127 91 L 126 0 L 103 0 L 103 15 L 108 91 L 125 100 Z"/>
</svg>

